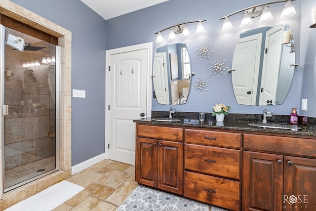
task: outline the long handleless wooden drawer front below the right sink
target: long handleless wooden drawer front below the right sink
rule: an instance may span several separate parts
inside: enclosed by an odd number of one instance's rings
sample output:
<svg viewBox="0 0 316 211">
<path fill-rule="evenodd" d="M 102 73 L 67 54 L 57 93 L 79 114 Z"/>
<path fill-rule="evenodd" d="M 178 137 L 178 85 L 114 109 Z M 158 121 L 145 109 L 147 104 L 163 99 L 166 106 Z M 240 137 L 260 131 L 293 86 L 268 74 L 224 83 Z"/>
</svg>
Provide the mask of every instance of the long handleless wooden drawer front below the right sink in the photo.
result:
<svg viewBox="0 0 316 211">
<path fill-rule="evenodd" d="M 243 134 L 243 148 L 316 157 L 316 139 Z"/>
</svg>

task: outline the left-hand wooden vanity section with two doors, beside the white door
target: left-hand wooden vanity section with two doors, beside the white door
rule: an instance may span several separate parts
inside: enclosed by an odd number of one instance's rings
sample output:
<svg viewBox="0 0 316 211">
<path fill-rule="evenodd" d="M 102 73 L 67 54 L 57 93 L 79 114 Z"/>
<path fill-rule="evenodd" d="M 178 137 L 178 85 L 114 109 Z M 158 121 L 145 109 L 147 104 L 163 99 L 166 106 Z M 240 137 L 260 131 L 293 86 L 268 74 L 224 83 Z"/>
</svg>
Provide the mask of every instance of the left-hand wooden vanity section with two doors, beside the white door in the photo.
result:
<svg viewBox="0 0 316 211">
<path fill-rule="evenodd" d="M 137 131 L 136 181 L 182 195 L 183 129 L 138 125 Z"/>
</svg>

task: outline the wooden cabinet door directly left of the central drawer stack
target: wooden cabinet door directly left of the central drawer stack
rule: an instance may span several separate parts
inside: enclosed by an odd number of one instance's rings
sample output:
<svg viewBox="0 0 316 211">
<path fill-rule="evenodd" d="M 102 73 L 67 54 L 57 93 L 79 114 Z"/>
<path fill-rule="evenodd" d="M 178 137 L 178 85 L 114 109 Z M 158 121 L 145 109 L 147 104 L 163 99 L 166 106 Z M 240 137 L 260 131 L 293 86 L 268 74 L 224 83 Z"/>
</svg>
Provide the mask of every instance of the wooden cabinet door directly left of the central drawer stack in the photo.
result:
<svg viewBox="0 0 316 211">
<path fill-rule="evenodd" d="M 159 140 L 158 145 L 158 188 L 182 195 L 183 144 Z"/>
</svg>

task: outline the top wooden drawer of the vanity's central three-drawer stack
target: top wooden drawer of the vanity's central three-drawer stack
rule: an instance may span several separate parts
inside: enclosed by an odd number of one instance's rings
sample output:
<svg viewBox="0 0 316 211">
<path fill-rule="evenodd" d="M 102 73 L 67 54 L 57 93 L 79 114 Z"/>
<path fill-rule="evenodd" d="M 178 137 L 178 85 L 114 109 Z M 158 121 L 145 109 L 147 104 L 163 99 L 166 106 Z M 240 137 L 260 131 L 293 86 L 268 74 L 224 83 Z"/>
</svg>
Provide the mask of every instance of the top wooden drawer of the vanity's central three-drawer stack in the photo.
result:
<svg viewBox="0 0 316 211">
<path fill-rule="evenodd" d="M 186 142 L 240 148 L 241 133 L 185 129 Z"/>
</svg>

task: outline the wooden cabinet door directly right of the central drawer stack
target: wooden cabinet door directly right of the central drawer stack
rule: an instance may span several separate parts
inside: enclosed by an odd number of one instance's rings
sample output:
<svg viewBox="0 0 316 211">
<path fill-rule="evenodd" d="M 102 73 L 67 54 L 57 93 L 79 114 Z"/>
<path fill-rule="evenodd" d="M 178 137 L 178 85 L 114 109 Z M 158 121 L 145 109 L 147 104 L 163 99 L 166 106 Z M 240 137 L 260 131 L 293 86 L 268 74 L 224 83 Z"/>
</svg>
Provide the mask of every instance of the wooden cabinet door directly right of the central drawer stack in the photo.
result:
<svg viewBox="0 0 316 211">
<path fill-rule="evenodd" d="M 244 211 L 281 211 L 283 156 L 243 152 L 242 207 Z"/>
</svg>

